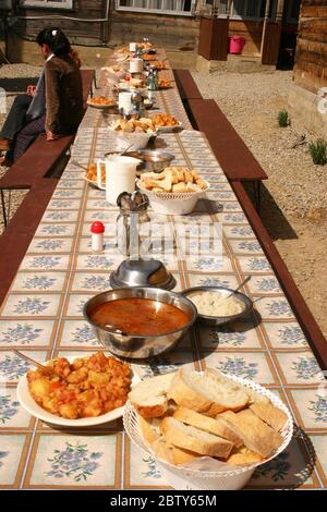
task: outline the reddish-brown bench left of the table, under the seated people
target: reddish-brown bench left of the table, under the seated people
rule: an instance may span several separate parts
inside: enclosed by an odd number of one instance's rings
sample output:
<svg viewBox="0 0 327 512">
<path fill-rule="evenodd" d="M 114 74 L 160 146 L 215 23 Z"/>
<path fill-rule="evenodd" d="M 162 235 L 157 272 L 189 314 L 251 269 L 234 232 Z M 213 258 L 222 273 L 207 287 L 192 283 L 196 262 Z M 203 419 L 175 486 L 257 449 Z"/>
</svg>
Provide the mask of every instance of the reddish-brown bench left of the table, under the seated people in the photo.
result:
<svg viewBox="0 0 327 512">
<path fill-rule="evenodd" d="M 93 95 L 95 83 L 94 70 L 82 70 L 83 99 L 86 108 L 88 94 Z M 68 157 L 66 151 L 72 145 L 75 135 L 66 135 L 58 141 L 47 143 L 46 136 L 40 135 L 11 166 L 0 180 L 0 196 L 2 204 L 3 222 L 8 224 L 8 211 L 5 209 L 4 191 L 26 190 L 38 183 L 43 178 L 63 170 Z M 9 208 L 10 209 L 10 200 Z"/>
</svg>

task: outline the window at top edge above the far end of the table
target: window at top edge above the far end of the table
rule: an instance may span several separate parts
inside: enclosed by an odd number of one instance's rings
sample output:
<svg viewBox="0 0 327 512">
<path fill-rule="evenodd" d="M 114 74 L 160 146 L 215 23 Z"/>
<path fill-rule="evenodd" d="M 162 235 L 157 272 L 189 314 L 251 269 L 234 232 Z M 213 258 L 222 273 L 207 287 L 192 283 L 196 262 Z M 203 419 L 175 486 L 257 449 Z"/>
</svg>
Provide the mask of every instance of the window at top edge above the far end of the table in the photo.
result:
<svg viewBox="0 0 327 512">
<path fill-rule="evenodd" d="M 118 11 L 191 15 L 195 0 L 116 0 Z"/>
</svg>

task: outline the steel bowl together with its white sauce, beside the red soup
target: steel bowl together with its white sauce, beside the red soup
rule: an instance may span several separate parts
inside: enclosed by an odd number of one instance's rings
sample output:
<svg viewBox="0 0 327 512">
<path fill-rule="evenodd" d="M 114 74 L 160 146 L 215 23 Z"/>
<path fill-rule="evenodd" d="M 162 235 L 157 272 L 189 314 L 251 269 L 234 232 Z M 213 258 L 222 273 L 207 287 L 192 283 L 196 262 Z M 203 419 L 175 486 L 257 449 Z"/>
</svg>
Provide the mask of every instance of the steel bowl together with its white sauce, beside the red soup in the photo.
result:
<svg viewBox="0 0 327 512">
<path fill-rule="evenodd" d="M 211 327 L 238 320 L 253 307 L 247 295 L 225 287 L 189 288 L 182 295 L 195 305 L 198 321 Z"/>
</svg>

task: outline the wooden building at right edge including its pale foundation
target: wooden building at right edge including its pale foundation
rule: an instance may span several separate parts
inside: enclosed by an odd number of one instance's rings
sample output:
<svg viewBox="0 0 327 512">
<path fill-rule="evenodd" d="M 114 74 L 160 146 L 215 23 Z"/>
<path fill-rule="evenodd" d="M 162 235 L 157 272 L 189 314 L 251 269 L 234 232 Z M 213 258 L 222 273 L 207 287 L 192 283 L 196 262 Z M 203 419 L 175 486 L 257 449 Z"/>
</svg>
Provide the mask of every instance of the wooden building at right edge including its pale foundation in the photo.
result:
<svg viewBox="0 0 327 512">
<path fill-rule="evenodd" d="M 327 0 L 302 0 L 289 105 L 296 124 L 327 139 Z"/>
</svg>

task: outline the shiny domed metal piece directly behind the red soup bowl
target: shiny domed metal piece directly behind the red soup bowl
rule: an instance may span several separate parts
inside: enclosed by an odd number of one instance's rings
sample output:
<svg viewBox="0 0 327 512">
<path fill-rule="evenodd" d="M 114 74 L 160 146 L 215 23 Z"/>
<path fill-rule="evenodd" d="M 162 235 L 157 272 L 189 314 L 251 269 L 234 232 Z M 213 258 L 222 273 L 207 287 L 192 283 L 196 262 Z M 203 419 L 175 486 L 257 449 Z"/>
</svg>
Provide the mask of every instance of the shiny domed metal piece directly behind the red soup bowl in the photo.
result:
<svg viewBox="0 0 327 512">
<path fill-rule="evenodd" d="M 111 288 L 154 287 L 172 290 L 177 282 L 158 259 L 125 259 L 110 276 Z"/>
</svg>

